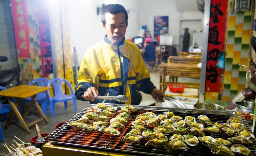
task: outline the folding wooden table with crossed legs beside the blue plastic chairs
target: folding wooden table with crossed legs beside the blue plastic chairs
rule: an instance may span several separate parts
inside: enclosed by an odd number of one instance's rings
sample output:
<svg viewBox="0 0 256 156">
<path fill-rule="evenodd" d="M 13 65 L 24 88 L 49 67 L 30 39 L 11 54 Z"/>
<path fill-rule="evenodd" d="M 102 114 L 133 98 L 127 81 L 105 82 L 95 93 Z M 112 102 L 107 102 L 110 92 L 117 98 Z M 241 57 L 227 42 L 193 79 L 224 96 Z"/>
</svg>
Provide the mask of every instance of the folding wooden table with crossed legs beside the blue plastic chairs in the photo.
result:
<svg viewBox="0 0 256 156">
<path fill-rule="evenodd" d="M 49 121 L 48 121 L 47 117 L 44 115 L 41 107 L 38 105 L 38 102 L 36 102 L 36 100 L 35 100 L 35 97 L 38 93 L 47 91 L 48 89 L 51 89 L 51 87 L 40 87 L 40 86 L 36 86 L 36 85 L 18 85 L 13 88 L 8 88 L 6 90 L 0 91 L 0 96 L 7 97 L 9 103 L 12 106 L 12 112 L 10 113 L 10 116 L 7 119 L 7 122 L 6 122 L 6 125 L 4 128 L 7 129 L 8 126 L 13 123 L 12 116 L 14 115 L 14 113 L 16 113 L 18 119 L 20 119 L 20 122 L 23 125 L 23 127 L 25 128 L 27 133 L 31 133 L 31 131 L 29 130 L 29 127 L 35 125 L 35 123 L 40 122 L 41 120 L 45 120 L 45 122 L 48 123 Z M 29 102 L 29 105 L 28 105 L 25 113 L 23 115 L 21 115 L 17 109 L 17 106 L 20 104 L 22 99 L 26 99 L 28 97 L 31 97 L 31 102 Z M 17 100 L 16 103 L 12 102 L 12 98 Z M 35 106 L 36 106 L 37 110 L 39 111 L 39 113 L 41 114 L 42 118 L 36 119 L 36 120 L 30 122 L 29 124 L 26 124 L 24 119 L 26 119 L 33 104 L 35 104 Z M 16 118 L 16 121 L 17 121 L 17 118 Z"/>
</svg>

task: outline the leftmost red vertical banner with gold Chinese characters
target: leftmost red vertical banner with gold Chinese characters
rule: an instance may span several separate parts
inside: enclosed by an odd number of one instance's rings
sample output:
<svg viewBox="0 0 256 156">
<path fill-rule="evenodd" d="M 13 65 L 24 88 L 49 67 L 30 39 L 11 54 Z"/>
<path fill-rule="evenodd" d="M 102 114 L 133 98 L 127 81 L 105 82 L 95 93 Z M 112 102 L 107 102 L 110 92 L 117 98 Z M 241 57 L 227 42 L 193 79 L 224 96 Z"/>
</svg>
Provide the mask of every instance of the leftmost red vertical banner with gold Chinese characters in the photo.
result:
<svg viewBox="0 0 256 156">
<path fill-rule="evenodd" d="M 20 58 L 29 58 L 29 23 L 26 0 L 11 0 L 16 48 Z"/>
</svg>

